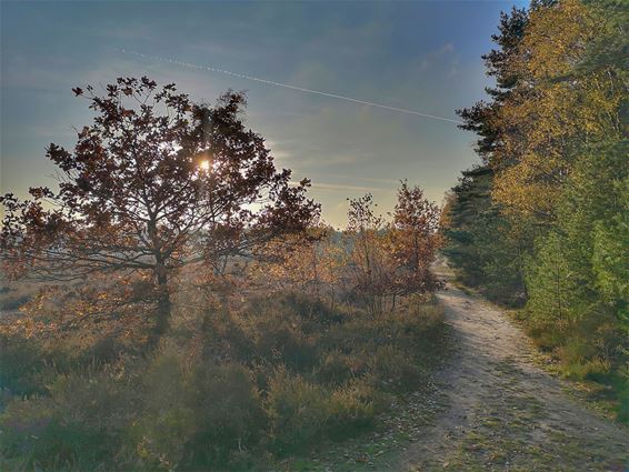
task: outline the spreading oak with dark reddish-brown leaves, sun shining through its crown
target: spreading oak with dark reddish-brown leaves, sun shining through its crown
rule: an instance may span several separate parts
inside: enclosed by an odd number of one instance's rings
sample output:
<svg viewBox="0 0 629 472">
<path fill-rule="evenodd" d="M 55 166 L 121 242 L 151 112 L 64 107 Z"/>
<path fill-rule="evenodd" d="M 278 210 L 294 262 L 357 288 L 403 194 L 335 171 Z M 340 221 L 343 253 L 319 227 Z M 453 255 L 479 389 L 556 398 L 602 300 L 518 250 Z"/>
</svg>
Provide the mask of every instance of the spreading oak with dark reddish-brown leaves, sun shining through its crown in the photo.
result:
<svg viewBox="0 0 629 472">
<path fill-rule="evenodd" d="M 168 328 L 168 282 L 184 265 L 247 258 L 299 233 L 319 214 L 307 179 L 277 170 L 261 135 L 246 128 L 243 94 L 214 107 L 174 84 L 120 78 L 98 93 L 73 89 L 94 112 L 73 151 L 50 144 L 59 189 L 6 194 L 2 262 L 13 277 L 78 280 L 93 273 L 150 273 L 156 331 Z"/>
</svg>

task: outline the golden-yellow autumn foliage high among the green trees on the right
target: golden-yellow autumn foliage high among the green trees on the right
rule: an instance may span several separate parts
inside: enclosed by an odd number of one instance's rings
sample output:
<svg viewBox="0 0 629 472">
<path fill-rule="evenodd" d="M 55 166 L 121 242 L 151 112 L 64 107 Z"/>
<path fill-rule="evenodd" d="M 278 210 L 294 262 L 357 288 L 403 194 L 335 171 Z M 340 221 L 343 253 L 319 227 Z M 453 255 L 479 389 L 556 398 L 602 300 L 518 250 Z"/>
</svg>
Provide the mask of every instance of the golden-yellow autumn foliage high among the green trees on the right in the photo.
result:
<svg viewBox="0 0 629 472">
<path fill-rule="evenodd" d="M 575 73 L 588 46 L 609 28 L 578 0 L 532 10 L 519 57 L 521 84 L 495 117 L 502 143 L 492 157 L 493 198 L 519 218 L 552 218 L 561 187 L 583 143 L 621 132 L 626 98 L 618 74 Z"/>
</svg>

